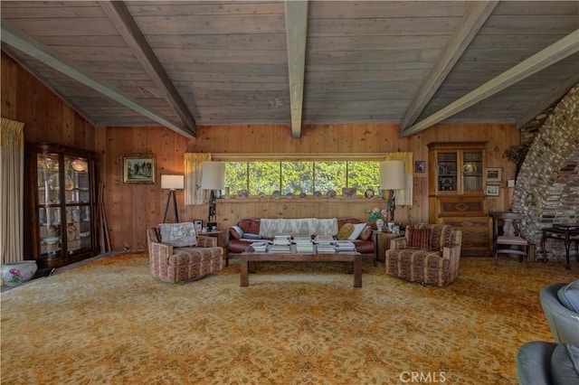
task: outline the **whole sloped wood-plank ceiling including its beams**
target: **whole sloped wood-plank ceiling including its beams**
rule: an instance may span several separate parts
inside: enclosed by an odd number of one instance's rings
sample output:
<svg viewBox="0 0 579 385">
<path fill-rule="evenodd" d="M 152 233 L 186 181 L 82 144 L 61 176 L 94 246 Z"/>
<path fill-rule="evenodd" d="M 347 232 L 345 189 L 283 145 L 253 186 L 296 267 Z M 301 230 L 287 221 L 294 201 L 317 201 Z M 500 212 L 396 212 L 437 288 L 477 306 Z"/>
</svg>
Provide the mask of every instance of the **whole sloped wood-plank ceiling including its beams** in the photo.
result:
<svg viewBox="0 0 579 385">
<path fill-rule="evenodd" d="M 577 1 L 2 1 L 2 50 L 95 126 L 517 127 L 579 82 Z"/>
</svg>

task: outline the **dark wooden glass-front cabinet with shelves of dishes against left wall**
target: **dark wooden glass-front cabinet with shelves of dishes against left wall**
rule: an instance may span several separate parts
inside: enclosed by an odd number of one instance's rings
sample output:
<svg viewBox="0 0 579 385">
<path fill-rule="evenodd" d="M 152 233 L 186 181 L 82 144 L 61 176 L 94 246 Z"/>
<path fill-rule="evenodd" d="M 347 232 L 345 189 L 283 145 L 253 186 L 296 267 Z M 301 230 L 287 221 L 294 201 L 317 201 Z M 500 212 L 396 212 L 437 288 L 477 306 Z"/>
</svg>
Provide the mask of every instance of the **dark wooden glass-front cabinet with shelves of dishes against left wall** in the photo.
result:
<svg viewBox="0 0 579 385">
<path fill-rule="evenodd" d="M 97 253 L 93 153 L 26 145 L 24 253 L 58 268 Z"/>
</svg>

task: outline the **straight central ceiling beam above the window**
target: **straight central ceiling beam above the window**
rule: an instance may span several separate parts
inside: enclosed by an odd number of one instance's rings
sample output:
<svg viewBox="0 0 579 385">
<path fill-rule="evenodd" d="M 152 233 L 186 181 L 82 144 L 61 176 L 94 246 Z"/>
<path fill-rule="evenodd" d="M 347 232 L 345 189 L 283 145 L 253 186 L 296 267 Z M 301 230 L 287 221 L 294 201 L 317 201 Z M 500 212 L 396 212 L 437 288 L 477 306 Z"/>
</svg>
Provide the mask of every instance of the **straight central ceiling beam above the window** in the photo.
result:
<svg viewBox="0 0 579 385">
<path fill-rule="evenodd" d="M 286 39 L 288 42 L 289 108 L 291 136 L 301 136 L 308 34 L 308 1 L 287 0 Z"/>
</svg>

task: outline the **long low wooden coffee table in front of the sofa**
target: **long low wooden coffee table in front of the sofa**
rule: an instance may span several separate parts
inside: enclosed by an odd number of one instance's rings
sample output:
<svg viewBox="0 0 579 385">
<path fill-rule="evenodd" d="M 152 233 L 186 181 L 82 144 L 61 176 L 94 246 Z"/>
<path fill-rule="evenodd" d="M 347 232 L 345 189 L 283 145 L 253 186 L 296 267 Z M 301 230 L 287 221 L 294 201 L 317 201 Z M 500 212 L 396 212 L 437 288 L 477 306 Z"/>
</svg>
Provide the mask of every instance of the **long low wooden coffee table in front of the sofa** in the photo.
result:
<svg viewBox="0 0 579 385">
<path fill-rule="evenodd" d="M 357 251 L 340 251 L 333 254 L 298 254 L 295 245 L 291 245 L 291 253 L 256 253 L 245 251 L 240 258 L 241 286 L 249 286 L 249 273 L 255 273 L 255 262 L 347 262 L 346 273 L 354 273 L 354 287 L 362 287 L 362 255 Z"/>
</svg>

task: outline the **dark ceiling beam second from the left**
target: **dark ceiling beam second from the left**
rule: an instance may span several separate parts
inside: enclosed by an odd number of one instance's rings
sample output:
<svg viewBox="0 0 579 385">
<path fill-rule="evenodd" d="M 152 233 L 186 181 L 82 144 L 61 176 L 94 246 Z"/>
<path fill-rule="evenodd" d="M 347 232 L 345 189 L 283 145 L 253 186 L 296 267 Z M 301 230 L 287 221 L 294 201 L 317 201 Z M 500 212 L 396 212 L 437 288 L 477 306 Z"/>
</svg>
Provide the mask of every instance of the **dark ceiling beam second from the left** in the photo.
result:
<svg viewBox="0 0 579 385">
<path fill-rule="evenodd" d="M 193 136 L 196 136 L 195 117 L 187 108 L 165 68 L 138 28 L 135 19 L 128 12 L 127 5 L 122 1 L 101 1 L 99 5 L 109 16 L 110 22 L 117 28 L 123 40 L 127 42 L 128 47 L 135 54 L 148 76 L 151 77 L 157 89 L 161 91 L 166 102 L 175 110 L 185 127 L 191 131 Z"/>
</svg>

